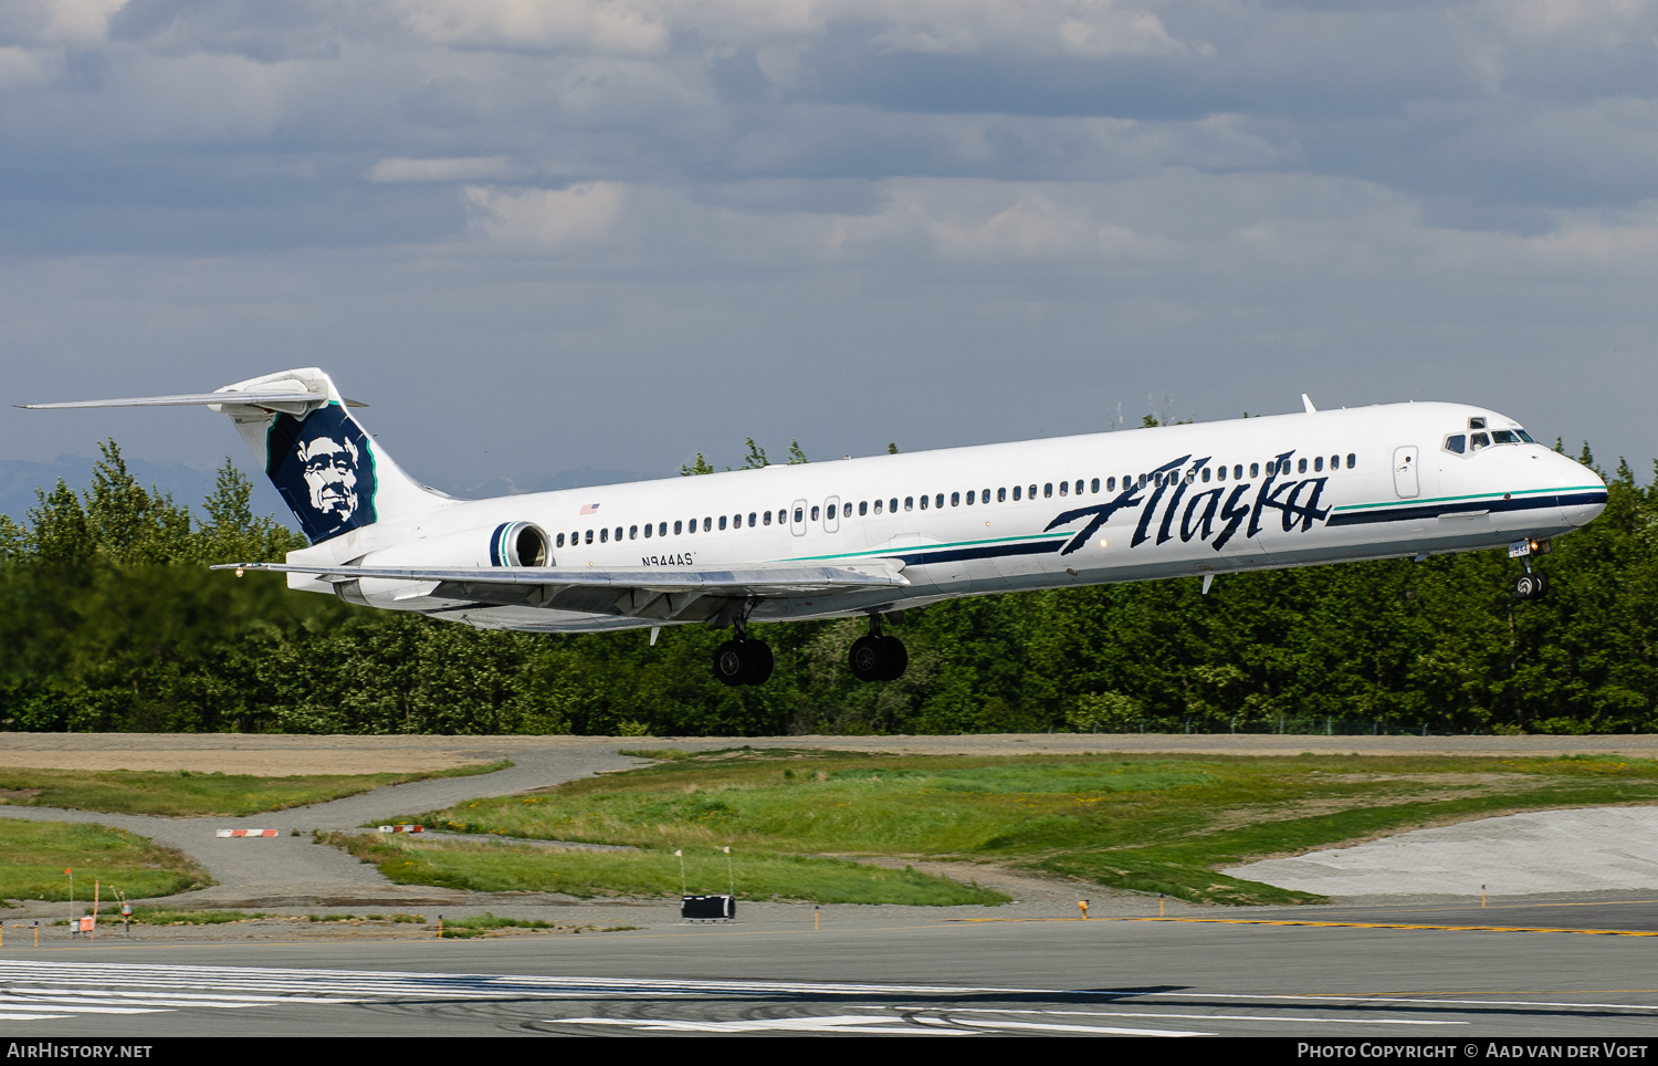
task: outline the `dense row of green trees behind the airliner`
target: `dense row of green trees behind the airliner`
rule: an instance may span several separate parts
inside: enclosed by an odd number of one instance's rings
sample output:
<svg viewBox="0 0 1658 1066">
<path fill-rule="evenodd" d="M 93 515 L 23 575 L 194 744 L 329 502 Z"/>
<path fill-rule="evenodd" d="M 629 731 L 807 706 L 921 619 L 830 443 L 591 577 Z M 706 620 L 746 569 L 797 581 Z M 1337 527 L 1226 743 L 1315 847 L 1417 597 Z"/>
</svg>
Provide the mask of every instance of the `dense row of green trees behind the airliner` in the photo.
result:
<svg viewBox="0 0 1658 1066">
<path fill-rule="evenodd" d="M 1587 463 L 1593 463 L 1587 449 Z M 763 463 L 763 459 L 761 459 Z M 862 622 L 756 625 L 778 668 L 713 680 L 705 627 L 471 630 L 237 580 L 298 537 L 227 463 L 196 521 L 104 446 L 93 486 L 0 519 L 0 728 L 274 733 L 1262 731 L 1658 728 L 1658 477 L 1539 560 L 1504 552 L 978 597 L 909 612 L 909 673 L 861 685 Z M 1285 724 L 1288 723 L 1288 726 Z M 1331 726 L 1333 728 L 1333 726 Z"/>
</svg>

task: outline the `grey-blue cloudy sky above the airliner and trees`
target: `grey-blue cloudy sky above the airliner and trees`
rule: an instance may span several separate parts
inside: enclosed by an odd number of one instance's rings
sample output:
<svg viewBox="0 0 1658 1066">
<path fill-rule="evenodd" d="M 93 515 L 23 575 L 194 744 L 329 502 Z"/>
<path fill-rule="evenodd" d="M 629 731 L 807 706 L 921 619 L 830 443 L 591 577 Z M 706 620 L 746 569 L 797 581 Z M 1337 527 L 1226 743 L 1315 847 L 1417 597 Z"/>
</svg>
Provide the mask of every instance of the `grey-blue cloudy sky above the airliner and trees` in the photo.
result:
<svg viewBox="0 0 1658 1066">
<path fill-rule="evenodd" d="M 451 489 L 1302 391 L 1645 471 L 1655 101 L 1643 0 L 5 0 L 0 381 L 320 365 Z M 104 434 L 239 448 L 0 459 Z"/>
</svg>

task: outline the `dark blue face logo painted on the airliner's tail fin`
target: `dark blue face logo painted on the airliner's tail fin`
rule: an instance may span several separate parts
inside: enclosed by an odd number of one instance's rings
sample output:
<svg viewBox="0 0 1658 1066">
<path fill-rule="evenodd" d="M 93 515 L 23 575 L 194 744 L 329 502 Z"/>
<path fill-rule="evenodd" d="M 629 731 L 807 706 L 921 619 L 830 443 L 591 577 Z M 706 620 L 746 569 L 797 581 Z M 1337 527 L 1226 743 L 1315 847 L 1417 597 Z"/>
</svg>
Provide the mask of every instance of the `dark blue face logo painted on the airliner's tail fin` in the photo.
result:
<svg viewBox="0 0 1658 1066">
<path fill-rule="evenodd" d="M 345 408 L 277 414 L 265 446 L 265 472 L 312 544 L 375 521 L 375 454 Z"/>
</svg>

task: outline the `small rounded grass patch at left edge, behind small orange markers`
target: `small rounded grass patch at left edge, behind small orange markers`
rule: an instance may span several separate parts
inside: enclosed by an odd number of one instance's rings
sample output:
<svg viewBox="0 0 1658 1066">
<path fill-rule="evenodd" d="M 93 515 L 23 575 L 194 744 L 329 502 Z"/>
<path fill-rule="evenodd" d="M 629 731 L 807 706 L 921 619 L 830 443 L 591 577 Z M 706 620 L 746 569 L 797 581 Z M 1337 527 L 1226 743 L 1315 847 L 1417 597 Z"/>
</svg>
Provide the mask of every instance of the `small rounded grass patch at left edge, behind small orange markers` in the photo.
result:
<svg viewBox="0 0 1658 1066">
<path fill-rule="evenodd" d="M 93 882 L 104 900 L 172 895 L 214 884 L 182 852 L 108 826 L 25 822 L 0 817 L 0 899 L 91 902 Z"/>
</svg>

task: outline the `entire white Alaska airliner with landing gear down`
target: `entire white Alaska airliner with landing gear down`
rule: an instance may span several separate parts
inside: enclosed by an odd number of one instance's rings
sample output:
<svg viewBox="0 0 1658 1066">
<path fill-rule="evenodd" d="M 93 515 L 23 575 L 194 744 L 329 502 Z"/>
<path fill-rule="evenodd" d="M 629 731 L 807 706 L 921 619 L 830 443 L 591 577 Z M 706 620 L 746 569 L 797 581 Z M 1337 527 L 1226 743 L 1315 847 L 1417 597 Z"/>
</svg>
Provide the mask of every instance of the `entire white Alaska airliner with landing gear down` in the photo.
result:
<svg viewBox="0 0 1658 1066">
<path fill-rule="evenodd" d="M 1461 403 L 768 466 L 463 501 L 414 481 L 317 368 L 216 393 L 25 405 L 229 414 L 312 545 L 290 589 L 481 628 L 705 623 L 728 685 L 771 676 L 751 622 L 869 618 L 862 681 L 904 673 L 882 618 L 952 597 L 1507 547 L 1530 555 L 1607 504 L 1593 471 Z"/>
</svg>

